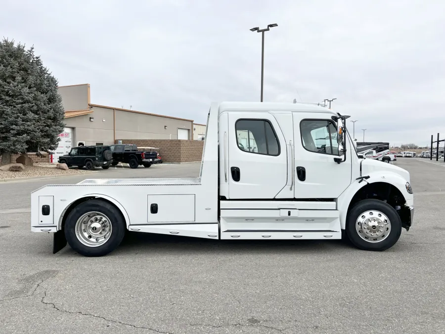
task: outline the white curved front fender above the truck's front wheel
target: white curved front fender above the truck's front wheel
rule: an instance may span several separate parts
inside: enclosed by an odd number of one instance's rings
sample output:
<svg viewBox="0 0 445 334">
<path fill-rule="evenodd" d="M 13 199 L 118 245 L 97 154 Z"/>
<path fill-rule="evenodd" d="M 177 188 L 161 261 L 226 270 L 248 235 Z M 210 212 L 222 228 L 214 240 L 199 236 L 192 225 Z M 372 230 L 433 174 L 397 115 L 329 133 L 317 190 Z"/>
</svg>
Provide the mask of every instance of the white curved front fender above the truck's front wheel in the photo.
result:
<svg viewBox="0 0 445 334">
<path fill-rule="evenodd" d="M 348 208 L 349 204 L 351 203 L 351 200 L 353 199 L 354 195 L 359 191 L 361 188 L 366 186 L 367 184 L 372 183 L 388 183 L 394 187 L 396 187 L 405 200 L 408 202 L 409 199 L 412 198 L 412 194 L 409 194 L 406 192 L 405 184 L 406 180 L 403 179 L 399 174 L 392 173 L 392 172 L 371 172 L 368 174 L 370 176 L 369 179 L 366 181 L 363 181 L 361 183 L 358 183 L 359 180 L 354 180 L 353 183 L 344 191 L 340 197 L 338 197 L 337 202 L 337 209 L 340 212 L 340 227 L 342 230 L 346 228 L 346 216 L 348 214 Z M 409 204 L 409 203 L 408 203 Z"/>
</svg>

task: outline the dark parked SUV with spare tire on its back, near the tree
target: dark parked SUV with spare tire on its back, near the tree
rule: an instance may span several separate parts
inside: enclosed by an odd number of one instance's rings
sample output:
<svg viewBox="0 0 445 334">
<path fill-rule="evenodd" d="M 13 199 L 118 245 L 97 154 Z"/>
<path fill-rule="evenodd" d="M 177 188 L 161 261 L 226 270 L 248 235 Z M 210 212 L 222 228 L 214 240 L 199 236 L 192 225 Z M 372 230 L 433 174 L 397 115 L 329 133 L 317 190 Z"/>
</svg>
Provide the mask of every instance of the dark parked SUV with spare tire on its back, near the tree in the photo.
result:
<svg viewBox="0 0 445 334">
<path fill-rule="evenodd" d="M 59 163 L 66 163 L 68 167 L 77 166 L 91 170 L 94 167 L 110 168 L 112 153 L 110 146 L 79 146 L 71 148 L 67 155 L 59 157 Z"/>
</svg>

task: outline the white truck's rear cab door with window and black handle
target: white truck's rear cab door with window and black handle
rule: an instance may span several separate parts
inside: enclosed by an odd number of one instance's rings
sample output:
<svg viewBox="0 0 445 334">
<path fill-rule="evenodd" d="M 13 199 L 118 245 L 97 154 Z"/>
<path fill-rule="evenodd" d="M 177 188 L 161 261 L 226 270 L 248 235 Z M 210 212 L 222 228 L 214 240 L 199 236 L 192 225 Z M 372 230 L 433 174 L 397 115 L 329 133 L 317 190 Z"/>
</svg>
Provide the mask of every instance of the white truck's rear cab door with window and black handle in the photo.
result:
<svg viewBox="0 0 445 334">
<path fill-rule="evenodd" d="M 286 142 L 275 117 L 228 112 L 227 130 L 229 198 L 274 198 L 286 186 L 288 166 Z"/>
</svg>

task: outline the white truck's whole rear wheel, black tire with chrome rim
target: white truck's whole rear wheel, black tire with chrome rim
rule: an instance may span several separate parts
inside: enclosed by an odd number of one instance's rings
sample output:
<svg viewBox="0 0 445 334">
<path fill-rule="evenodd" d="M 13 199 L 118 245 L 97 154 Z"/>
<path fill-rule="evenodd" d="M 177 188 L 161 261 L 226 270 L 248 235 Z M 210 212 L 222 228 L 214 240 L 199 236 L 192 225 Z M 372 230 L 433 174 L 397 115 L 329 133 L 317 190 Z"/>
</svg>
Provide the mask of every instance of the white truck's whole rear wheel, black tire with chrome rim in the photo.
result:
<svg viewBox="0 0 445 334">
<path fill-rule="evenodd" d="M 76 206 L 65 223 L 68 244 L 84 256 L 103 256 L 121 243 L 126 224 L 112 204 L 91 199 Z"/>
</svg>

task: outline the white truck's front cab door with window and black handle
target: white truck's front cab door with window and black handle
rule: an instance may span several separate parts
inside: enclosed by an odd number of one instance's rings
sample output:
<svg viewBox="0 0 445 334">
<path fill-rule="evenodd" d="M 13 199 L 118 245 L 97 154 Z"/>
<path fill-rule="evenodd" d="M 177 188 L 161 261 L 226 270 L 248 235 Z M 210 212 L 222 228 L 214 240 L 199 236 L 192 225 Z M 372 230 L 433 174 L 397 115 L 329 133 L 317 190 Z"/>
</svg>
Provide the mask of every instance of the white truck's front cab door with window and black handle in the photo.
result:
<svg viewBox="0 0 445 334">
<path fill-rule="evenodd" d="M 339 144 L 331 117 L 330 113 L 294 113 L 295 198 L 337 198 L 351 184 L 354 148 L 347 136 L 346 161 L 334 161 Z"/>
</svg>

